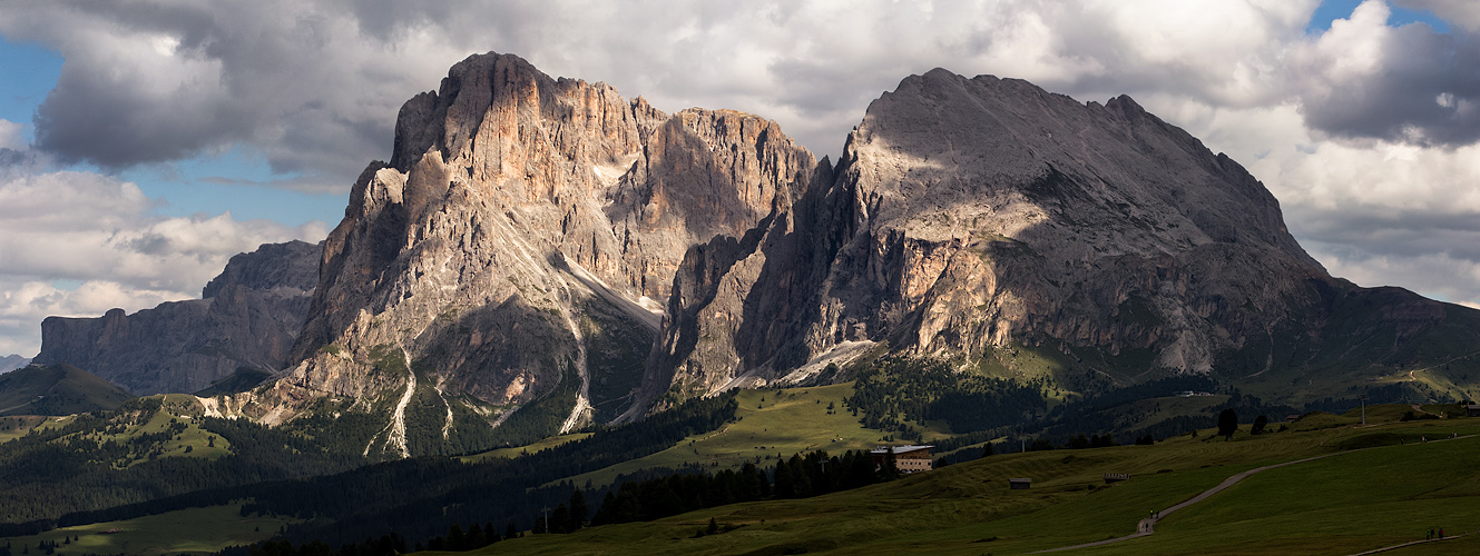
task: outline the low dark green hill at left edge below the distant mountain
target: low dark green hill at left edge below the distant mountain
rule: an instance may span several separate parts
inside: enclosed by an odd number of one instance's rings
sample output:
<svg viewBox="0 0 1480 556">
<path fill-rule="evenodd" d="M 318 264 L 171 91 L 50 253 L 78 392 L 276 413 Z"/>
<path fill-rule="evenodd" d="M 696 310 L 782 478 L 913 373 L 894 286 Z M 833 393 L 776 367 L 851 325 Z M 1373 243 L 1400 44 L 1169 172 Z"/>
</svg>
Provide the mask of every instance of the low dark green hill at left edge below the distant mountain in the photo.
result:
<svg viewBox="0 0 1480 556">
<path fill-rule="evenodd" d="M 0 376 L 0 416 L 112 410 L 133 395 L 73 365 L 31 365 Z"/>
</svg>

